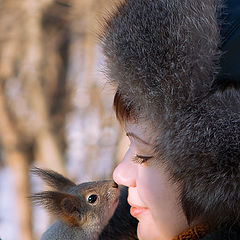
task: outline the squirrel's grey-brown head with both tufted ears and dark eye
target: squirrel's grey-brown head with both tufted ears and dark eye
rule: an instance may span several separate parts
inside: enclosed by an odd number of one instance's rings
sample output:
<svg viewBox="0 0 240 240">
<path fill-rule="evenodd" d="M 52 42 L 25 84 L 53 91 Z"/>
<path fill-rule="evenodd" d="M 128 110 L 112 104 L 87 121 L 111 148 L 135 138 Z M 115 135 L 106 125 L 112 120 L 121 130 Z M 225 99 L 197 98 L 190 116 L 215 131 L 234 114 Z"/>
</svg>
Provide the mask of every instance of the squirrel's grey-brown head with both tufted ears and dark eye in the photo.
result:
<svg viewBox="0 0 240 240">
<path fill-rule="evenodd" d="M 55 190 L 33 194 L 31 200 L 70 227 L 101 230 L 117 207 L 119 187 L 112 180 L 76 185 L 54 171 L 34 168 L 32 173 Z"/>
</svg>

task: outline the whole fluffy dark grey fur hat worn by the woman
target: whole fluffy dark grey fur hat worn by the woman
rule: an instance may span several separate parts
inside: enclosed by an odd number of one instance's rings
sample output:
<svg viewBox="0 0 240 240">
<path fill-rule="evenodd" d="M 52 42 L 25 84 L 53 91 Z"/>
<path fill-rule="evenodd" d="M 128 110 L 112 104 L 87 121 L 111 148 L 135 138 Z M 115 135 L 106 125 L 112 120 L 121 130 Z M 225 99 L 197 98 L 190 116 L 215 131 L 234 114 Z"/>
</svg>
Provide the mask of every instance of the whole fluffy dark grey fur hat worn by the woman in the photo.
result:
<svg viewBox="0 0 240 240">
<path fill-rule="evenodd" d="M 107 76 L 158 131 L 192 222 L 240 219 L 240 94 L 219 79 L 219 0 L 126 0 L 102 38 Z"/>
</svg>

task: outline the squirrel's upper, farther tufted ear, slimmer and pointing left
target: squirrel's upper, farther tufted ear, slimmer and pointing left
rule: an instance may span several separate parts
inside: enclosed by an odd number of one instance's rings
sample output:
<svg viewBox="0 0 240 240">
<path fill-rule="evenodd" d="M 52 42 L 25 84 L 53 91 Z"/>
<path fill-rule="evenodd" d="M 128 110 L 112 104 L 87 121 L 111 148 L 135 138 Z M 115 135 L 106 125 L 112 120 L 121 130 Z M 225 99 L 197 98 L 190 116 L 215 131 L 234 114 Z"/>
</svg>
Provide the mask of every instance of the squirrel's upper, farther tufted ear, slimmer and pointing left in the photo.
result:
<svg viewBox="0 0 240 240">
<path fill-rule="evenodd" d="M 65 192 L 71 187 L 76 186 L 75 183 L 52 170 L 34 167 L 31 169 L 31 173 L 39 176 L 47 185 L 58 191 Z"/>
</svg>

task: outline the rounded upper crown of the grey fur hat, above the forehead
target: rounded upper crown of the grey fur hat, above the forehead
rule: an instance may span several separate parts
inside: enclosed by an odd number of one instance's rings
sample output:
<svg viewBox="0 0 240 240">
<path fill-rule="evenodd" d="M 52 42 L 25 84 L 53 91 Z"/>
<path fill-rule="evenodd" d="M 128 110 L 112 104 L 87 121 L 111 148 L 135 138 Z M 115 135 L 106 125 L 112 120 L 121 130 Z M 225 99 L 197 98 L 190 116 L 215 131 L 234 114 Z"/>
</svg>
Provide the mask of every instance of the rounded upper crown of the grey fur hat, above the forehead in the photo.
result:
<svg viewBox="0 0 240 240">
<path fill-rule="evenodd" d="M 209 91 L 219 56 L 217 11 L 215 0 L 122 4 L 102 42 L 108 77 L 126 102 L 149 108 L 149 116 L 185 107 Z"/>
</svg>

